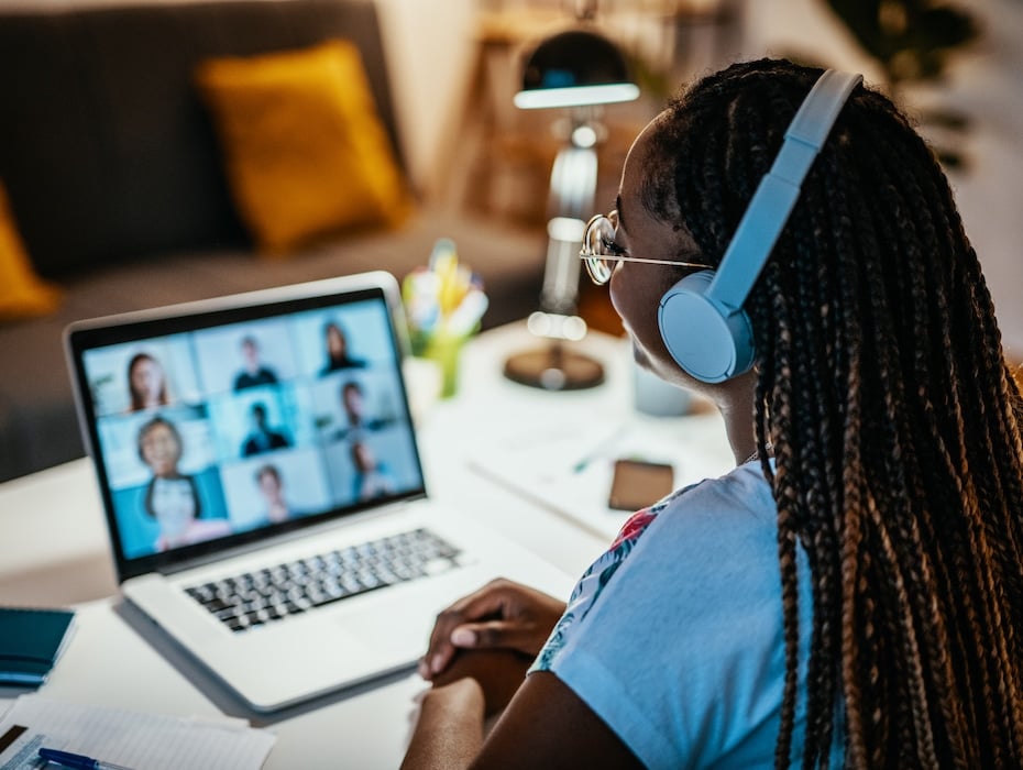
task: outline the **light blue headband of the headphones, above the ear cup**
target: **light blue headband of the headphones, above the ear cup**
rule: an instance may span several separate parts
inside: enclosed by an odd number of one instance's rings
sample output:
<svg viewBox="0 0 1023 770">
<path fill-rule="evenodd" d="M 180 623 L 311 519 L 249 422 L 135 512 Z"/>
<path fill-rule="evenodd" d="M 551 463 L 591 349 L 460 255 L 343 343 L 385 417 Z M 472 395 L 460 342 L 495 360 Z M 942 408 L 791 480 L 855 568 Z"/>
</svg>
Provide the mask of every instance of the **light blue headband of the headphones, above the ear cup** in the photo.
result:
<svg viewBox="0 0 1023 770">
<path fill-rule="evenodd" d="M 814 84 L 785 131 L 785 141 L 746 208 L 706 297 L 730 310 L 743 307 L 767 263 L 814 158 L 862 75 L 829 69 Z M 726 270 L 727 268 L 727 270 Z"/>
</svg>

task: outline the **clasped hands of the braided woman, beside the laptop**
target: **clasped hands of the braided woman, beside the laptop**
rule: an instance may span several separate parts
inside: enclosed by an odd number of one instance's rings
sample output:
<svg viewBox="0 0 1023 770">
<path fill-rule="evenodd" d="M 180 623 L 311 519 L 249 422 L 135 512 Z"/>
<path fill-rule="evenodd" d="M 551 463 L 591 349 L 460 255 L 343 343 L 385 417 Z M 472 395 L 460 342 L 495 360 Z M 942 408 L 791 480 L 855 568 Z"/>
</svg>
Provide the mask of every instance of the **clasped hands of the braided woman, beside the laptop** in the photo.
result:
<svg viewBox="0 0 1023 770">
<path fill-rule="evenodd" d="M 496 714 L 522 683 L 564 608 L 564 602 L 536 588 L 491 581 L 437 616 L 419 674 L 435 690 L 475 680 L 486 715 Z"/>
</svg>

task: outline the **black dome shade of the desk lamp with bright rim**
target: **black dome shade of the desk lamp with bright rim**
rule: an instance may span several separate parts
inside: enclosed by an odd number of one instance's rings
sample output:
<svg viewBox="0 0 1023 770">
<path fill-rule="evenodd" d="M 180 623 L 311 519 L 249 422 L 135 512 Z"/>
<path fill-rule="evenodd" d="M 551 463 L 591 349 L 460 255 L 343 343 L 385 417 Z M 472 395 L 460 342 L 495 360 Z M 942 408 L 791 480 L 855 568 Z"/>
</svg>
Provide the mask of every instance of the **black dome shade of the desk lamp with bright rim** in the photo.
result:
<svg viewBox="0 0 1023 770">
<path fill-rule="evenodd" d="M 526 59 L 515 106 L 524 110 L 583 107 L 631 101 L 638 96 L 639 88 L 614 43 L 596 32 L 569 30 L 541 42 Z"/>
</svg>

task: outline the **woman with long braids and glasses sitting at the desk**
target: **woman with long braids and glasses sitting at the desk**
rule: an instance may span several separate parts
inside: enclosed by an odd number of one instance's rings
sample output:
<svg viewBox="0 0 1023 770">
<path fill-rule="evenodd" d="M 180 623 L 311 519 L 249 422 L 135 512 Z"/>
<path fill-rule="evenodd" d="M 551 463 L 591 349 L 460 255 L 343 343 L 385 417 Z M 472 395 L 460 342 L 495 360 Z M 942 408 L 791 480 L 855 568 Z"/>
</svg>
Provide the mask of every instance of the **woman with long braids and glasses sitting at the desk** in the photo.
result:
<svg viewBox="0 0 1023 770">
<path fill-rule="evenodd" d="M 1023 403 L 905 118 L 862 86 L 845 103 L 745 302 L 751 370 L 696 382 L 658 324 L 820 74 L 695 84 L 635 142 L 597 243 L 685 263 L 618 262 L 612 300 L 640 364 L 716 403 L 737 469 L 634 516 L 566 609 L 501 583 L 443 613 L 407 767 L 1023 766 Z"/>
</svg>

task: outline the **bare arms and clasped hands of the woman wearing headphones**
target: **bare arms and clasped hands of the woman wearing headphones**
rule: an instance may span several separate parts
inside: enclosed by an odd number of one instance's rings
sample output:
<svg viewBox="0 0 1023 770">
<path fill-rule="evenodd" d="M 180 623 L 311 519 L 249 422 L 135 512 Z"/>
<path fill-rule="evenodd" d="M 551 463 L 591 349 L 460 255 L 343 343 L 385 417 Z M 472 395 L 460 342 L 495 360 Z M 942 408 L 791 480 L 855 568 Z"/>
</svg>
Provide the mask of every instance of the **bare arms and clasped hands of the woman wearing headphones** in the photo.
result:
<svg viewBox="0 0 1023 770">
<path fill-rule="evenodd" d="M 441 613 L 420 666 L 433 688 L 402 770 L 641 768 L 554 674 L 526 676 L 563 612 L 563 602 L 499 580 Z M 486 719 L 495 714 L 501 718 L 486 735 Z"/>
</svg>

